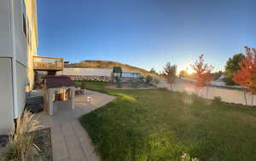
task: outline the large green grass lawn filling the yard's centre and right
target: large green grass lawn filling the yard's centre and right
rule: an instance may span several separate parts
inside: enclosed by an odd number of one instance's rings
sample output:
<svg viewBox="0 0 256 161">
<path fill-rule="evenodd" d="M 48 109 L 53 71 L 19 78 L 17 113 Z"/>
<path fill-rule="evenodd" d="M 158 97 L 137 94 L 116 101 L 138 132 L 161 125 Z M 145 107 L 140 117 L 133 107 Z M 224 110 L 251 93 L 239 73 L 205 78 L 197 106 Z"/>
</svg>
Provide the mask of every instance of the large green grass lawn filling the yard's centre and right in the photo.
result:
<svg viewBox="0 0 256 161">
<path fill-rule="evenodd" d="M 117 99 L 79 118 L 103 161 L 256 160 L 256 110 L 224 103 L 205 105 L 165 89 L 104 89 Z"/>
</svg>

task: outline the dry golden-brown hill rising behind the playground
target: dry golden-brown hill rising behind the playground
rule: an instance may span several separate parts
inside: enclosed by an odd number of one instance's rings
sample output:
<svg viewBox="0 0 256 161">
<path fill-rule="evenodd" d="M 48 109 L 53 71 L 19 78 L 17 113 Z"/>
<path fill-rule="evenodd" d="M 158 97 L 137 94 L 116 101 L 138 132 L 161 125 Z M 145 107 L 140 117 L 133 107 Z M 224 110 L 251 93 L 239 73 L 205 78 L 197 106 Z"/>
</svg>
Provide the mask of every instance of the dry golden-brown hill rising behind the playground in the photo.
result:
<svg viewBox="0 0 256 161">
<path fill-rule="evenodd" d="M 65 67 L 81 67 L 81 68 L 105 68 L 105 69 L 113 69 L 113 66 L 121 66 L 123 71 L 131 71 L 131 72 L 141 72 L 143 76 L 156 76 L 156 74 L 152 72 L 148 72 L 143 68 L 139 68 L 136 66 L 130 66 L 127 64 L 123 64 L 115 61 L 107 61 L 107 60 L 83 60 L 79 63 L 69 63 L 65 64 Z"/>
</svg>

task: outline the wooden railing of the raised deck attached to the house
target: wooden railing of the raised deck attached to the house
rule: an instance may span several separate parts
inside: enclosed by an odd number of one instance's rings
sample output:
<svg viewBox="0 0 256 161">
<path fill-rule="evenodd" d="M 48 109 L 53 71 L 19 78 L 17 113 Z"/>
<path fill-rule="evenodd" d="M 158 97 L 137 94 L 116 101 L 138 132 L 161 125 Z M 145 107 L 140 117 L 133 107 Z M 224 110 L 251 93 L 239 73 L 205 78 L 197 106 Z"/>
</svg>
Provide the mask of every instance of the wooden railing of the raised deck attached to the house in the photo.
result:
<svg viewBox="0 0 256 161">
<path fill-rule="evenodd" d="M 33 56 L 34 70 L 37 71 L 62 71 L 64 64 L 62 58 Z"/>
</svg>

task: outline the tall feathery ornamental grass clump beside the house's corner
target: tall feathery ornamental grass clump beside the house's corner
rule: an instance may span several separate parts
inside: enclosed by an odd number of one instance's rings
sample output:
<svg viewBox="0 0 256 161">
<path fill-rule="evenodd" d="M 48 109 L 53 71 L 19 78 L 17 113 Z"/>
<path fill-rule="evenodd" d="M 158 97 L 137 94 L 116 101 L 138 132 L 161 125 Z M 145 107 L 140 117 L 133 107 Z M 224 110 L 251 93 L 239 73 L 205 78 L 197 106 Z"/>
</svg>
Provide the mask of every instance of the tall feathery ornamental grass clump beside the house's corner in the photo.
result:
<svg viewBox="0 0 256 161">
<path fill-rule="evenodd" d="M 34 135 L 31 133 L 38 127 L 38 120 L 26 110 L 22 117 L 17 119 L 15 132 L 10 133 L 9 146 L 1 155 L 1 160 L 33 161 L 35 158 L 39 159 L 40 149 L 35 145 Z"/>
</svg>

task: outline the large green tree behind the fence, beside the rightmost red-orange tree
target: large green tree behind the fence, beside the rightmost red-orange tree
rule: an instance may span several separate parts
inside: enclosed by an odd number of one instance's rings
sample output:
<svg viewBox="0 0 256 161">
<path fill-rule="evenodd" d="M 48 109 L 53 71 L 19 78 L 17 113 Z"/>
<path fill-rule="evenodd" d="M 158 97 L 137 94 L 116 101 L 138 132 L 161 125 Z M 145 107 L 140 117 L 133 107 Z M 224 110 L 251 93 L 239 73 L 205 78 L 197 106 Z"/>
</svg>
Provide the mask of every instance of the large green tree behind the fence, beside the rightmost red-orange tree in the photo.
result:
<svg viewBox="0 0 256 161">
<path fill-rule="evenodd" d="M 226 85 L 236 85 L 233 81 L 233 73 L 240 70 L 239 62 L 245 58 L 243 54 L 233 55 L 227 62 L 224 72 L 224 83 Z"/>
</svg>

